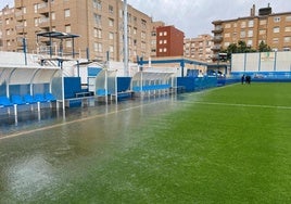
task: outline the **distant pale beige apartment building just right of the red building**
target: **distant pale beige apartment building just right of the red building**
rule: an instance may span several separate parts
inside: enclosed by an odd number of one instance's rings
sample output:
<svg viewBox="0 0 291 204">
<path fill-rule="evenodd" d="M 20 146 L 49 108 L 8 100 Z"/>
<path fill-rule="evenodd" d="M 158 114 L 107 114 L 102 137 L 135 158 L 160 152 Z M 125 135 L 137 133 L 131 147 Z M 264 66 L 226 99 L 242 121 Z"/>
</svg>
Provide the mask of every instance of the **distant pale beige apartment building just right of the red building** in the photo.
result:
<svg viewBox="0 0 291 204">
<path fill-rule="evenodd" d="M 200 35 L 197 38 L 185 38 L 184 56 L 203 62 L 212 62 L 213 44 L 213 37 L 208 34 Z"/>
</svg>

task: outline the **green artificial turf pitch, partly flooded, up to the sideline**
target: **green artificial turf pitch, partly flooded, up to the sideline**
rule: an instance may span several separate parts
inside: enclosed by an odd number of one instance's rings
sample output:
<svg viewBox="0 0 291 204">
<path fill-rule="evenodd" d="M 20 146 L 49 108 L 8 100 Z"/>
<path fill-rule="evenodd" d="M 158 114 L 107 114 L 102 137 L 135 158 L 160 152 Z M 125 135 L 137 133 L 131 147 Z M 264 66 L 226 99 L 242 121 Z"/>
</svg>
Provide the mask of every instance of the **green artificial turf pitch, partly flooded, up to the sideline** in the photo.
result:
<svg viewBox="0 0 291 204">
<path fill-rule="evenodd" d="M 233 85 L 0 140 L 0 203 L 290 203 L 290 89 Z"/>
</svg>

